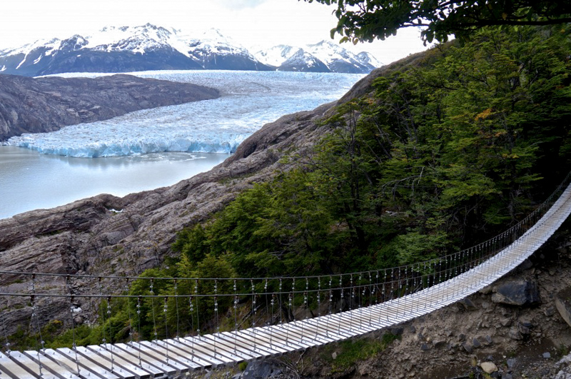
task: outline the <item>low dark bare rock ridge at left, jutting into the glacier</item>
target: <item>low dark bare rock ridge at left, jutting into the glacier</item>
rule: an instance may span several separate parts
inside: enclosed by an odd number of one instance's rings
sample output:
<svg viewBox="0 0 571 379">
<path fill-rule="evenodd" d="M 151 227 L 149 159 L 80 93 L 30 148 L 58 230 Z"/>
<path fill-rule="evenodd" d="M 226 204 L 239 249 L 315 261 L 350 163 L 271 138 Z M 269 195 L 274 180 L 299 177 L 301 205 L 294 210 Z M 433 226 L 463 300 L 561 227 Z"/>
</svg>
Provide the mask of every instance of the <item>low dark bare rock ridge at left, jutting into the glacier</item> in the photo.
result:
<svg viewBox="0 0 571 379">
<path fill-rule="evenodd" d="M 96 79 L 0 75 L 0 141 L 218 96 L 216 89 L 130 75 Z"/>
</svg>

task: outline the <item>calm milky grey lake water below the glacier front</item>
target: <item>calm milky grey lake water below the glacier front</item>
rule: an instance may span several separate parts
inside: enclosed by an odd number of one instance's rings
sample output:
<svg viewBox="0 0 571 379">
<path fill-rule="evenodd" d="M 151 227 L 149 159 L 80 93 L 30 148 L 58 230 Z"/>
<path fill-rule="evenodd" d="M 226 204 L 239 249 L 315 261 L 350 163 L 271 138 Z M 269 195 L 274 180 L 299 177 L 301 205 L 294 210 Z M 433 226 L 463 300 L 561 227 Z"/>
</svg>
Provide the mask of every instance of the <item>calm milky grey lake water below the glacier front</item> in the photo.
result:
<svg viewBox="0 0 571 379">
<path fill-rule="evenodd" d="M 0 219 L 99 193 L 125 196 L 171 186 L 226 158 L 228 154 L 182 152 L 71 158 L 0 146 Z"/>
</svg>

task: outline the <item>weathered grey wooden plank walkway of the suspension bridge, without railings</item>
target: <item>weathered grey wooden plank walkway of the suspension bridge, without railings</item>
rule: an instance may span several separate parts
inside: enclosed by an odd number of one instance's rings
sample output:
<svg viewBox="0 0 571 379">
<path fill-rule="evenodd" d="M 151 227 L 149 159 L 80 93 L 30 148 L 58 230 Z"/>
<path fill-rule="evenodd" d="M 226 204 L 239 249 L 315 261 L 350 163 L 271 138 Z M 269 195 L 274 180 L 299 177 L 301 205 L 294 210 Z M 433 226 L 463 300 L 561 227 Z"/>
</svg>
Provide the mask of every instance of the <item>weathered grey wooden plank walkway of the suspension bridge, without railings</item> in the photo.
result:
<svg viewBox="0 0 571 379">
<path fill-rule="evenodd" d="M 333 315 L 199 337 L 0 353 L 0 379 L 154 378 L 353 338 L 433 312 L 494 283 L 542 246 L 570 213 L 571 186 L 512 245 L 470 271 L 403 298 Z"/>
</svg>

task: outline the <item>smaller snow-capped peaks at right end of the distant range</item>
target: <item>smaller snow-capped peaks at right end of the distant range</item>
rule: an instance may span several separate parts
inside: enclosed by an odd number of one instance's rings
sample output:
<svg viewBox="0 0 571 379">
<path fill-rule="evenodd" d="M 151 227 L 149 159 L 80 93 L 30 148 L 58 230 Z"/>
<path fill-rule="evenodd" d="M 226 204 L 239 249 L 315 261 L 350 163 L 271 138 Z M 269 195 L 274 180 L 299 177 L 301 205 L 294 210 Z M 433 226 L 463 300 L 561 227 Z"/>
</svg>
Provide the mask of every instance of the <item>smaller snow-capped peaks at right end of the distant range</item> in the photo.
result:
<svg viewBox="0 0 571 379">
<path fill-rule="evenodd" d="M 315 67 L 324 65 L 326 69 L 320 70 L 365 74 L 381 66 L 369 53 L 355 55 L 330 41 L 303 47 L 278 45 L 258 51 L 255 56 L 259 61 L 277 66 L 281 71 L 315 71 Z"/>
</svg>

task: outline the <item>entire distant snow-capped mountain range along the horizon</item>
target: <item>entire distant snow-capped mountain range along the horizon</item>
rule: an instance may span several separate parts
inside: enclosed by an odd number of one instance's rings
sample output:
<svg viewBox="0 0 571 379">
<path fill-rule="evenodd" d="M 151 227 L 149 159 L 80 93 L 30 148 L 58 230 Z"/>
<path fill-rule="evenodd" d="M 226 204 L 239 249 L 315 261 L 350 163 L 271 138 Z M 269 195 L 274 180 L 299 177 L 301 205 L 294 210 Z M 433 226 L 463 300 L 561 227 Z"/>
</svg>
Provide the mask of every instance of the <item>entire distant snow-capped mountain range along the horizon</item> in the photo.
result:
<svg viewBox="0 0 571 379">
<path fill-rule="evenodd" d="M 356 56 L 326 41 L 301 49 L 281 45 L 253 55 L 216 29 L 189 36 L 152 24 L 107 26 L 89 36 L 0 50 L 0 74 L 25 76 L 166 69 L 368 73 L 374 62 L 370 54 Z"/>
</svg>

